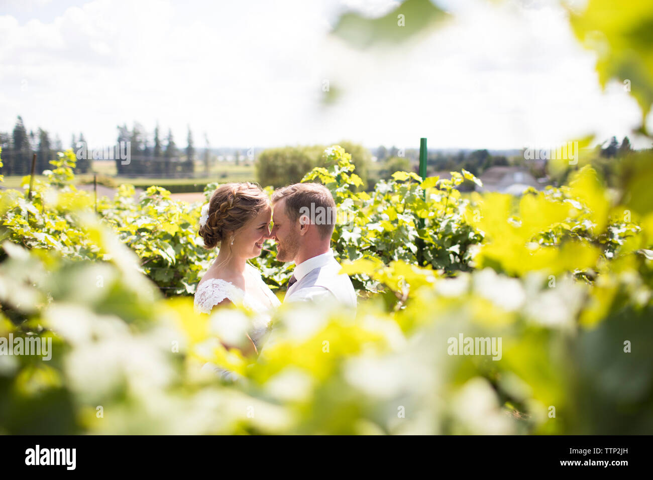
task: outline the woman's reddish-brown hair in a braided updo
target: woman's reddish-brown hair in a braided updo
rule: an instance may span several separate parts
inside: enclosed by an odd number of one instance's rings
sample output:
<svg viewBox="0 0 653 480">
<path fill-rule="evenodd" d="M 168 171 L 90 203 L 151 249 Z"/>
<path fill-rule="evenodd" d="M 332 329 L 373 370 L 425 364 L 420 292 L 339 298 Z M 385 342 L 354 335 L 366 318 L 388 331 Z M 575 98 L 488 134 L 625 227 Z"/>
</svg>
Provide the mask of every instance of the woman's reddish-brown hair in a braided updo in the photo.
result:
<svg viewBox="0 0 653 480">
<path fill-rule="evenodd" d="M 235 232 L 270 204 L 268 195 L 257 184 L 224 184 L 215 189 L 209 200 L 208 219 L 200 227 L 204 248 L 214 249 L 227 232 Z"/>
</svg>

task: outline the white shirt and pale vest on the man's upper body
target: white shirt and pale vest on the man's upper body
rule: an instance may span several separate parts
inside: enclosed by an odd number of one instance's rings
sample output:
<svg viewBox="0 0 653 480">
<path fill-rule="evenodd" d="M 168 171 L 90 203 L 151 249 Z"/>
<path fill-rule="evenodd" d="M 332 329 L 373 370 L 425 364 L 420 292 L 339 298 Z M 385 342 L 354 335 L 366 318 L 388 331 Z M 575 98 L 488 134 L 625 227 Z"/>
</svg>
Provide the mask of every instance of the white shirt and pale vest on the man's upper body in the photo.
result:
<svg viewBox="0 0 653 480">
<path fill-rule="evenodd" d="M 356 308 L 356 292 L 347 274 L 338 274 L 342 267 L 332 249 L 298 264 L 293 271 L 296 280 L 286 292 L 283 302 L 333 301 Z"/>
</svg>

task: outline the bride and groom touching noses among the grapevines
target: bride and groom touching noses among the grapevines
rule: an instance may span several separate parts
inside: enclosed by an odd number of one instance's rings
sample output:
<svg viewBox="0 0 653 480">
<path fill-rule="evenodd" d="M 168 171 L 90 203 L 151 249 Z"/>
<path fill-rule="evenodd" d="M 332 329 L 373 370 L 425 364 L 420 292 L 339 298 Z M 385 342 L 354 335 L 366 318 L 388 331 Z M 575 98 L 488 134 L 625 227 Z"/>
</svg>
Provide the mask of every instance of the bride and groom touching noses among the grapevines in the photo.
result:
<svg viewBox="0 0 653 480">
<path fill-rule="evenodd" d="M 199 235 L 204 248 L 219 246 L 219 252 L 197 285 L 195 310 L 211 313 L 217 306 L 244 304 L 257 313 L 249 338 L 258 351 L 281 302 L 247 259 L 258 257 L 268 238 L 277 244 L 279 261 L 295 263 L 283 302 L 339 302 L 355 309 L 354 287 L 349 276 L 339 274 L 330 248 L 335 212 L 334 199 L 321 184 L 289 185 L 272 199 L 249 182 L 218 187 L 202 208 Z"/>
</svg>

